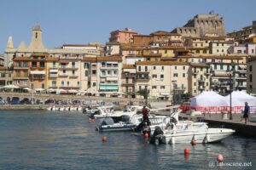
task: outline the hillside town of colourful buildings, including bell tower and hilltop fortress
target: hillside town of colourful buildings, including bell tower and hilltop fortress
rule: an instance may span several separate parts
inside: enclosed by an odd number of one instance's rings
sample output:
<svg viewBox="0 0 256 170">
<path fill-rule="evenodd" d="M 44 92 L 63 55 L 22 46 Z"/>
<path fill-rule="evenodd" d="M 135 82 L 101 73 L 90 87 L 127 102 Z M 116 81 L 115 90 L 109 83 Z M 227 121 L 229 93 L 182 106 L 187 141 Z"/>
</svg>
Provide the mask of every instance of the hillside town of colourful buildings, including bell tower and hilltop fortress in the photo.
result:
<svg viewBox="0 0 256 170">
<path fill-rule="evenodd" d="M 9 37 L 0 55 L 0 90 L 13 86 L 35 93 L 172 103 L 203 91 L 256 94 L 256 21 L 226 32 L 220 15 L 196 14 L 172 31 L 142 34 L 125 28 L 111 31 L 105 44 L 58 48 L 44 46 L 43 30 L 36 23 L 30 44 L 18 47 L 15 37 Z"/>
</svg>

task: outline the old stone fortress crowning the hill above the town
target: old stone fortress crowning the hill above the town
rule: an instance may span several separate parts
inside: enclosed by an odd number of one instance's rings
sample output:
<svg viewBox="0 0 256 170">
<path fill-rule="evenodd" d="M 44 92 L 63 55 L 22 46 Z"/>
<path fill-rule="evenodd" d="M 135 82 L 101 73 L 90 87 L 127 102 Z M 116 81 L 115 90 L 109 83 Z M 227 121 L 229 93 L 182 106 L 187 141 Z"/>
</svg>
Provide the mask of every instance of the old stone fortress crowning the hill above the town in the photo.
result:
<svg viewBox="0 0 256 170">
<path fill-rule="evenodd" d="M 175 28 L 172 33 L 181 34 L 183 37 L 205 37 L 207 35 L 226 35 L 224 19 L 218 14 L 196 14 L 183 27 Z"/>
</svg>

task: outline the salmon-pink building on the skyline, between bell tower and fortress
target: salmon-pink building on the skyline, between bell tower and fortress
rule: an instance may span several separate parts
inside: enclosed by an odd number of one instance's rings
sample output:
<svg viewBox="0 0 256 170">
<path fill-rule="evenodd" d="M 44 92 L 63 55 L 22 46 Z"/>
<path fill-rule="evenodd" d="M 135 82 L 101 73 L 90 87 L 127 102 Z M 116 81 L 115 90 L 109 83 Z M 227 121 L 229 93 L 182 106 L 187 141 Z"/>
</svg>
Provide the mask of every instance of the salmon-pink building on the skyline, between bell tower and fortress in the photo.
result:
<svg viewBox="0 0 256 170">
<path fill-rule="evenodd" d="M 133 42 L 133 35 L 137 35 L 137 31 L 132 31 L 129 28 L 112 31 L 110 32 L 109 42 L 131 43 Z"/>
</svg>

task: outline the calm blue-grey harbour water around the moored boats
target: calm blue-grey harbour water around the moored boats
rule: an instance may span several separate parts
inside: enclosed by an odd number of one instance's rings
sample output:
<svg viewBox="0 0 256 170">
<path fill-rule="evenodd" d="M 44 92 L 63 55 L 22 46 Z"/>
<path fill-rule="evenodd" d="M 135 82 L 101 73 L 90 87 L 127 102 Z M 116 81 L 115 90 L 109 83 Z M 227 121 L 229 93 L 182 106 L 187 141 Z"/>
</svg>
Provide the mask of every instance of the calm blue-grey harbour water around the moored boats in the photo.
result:
<svg viewBox="0 0 256 170">
<path fill-rule="evenodd" d="M 233 135 L 218 144 L 155 146 L 135 133 L 98 133 L 77 112 L 0 113 L 0 169 L 211 169 L 209 162 L 218 154 L 224 162 L 254 167 L 218 169 L 256 168 L 256 139 Z M 104 144 L 103 135 L 108 137 Z M 190 149 L 186 158 L 185 146 Z"/>
</svg>

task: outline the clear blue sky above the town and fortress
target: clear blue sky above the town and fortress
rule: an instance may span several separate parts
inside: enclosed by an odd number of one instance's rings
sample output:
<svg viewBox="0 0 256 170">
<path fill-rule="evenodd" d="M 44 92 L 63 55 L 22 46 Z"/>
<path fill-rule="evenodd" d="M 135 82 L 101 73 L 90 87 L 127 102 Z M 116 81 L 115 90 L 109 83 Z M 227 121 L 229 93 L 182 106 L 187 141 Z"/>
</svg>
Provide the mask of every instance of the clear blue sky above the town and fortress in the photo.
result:
<svg viewBox="0 0 256 170">
<path fill-rule="evenodd" d="M 227 31 L 256 20 L 255 0 L 5 0 L 0 10 L 0 54 L 9 36 L 15 47 L 31 41 L 36 21 L 47 48 L 63 43 L 107 42 L 109 32 L 129 27 L 139 33 L 172 31 L 195 14 L 211 10 L 224 17 Z"/>
</svg>

